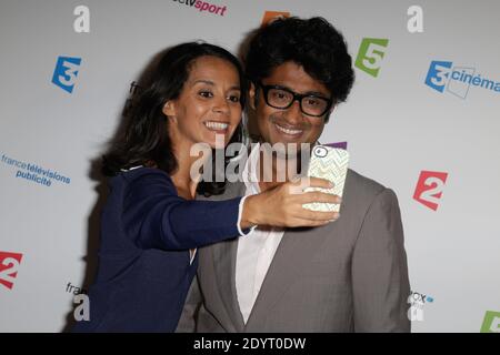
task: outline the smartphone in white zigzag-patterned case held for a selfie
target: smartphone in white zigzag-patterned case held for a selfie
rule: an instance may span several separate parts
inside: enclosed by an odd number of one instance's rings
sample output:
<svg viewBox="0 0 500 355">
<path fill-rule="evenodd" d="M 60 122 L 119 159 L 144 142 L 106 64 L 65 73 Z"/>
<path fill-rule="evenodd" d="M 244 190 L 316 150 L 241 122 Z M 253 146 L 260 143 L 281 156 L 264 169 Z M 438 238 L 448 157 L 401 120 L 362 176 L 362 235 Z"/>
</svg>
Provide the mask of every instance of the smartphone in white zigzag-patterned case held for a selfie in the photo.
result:
<svg viewBox="0 0 500 355">
<path fill-rule="evenodd" d="M 327 145 L 316 145 L 309 161 L 308 176 L 329 180 L 334 186 L 333 189 L 308 187 L 306 191 L 322 191 L 342 196 L 348 165 L 348 151 Z M 336 203 L 314 202 L 307 203 L 303 207 L 311 211 L 340 211 L 340 204 Z"/>
</svg>

